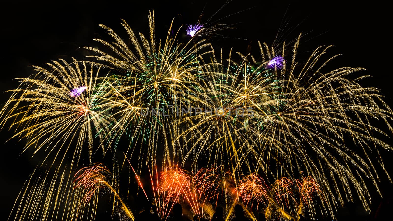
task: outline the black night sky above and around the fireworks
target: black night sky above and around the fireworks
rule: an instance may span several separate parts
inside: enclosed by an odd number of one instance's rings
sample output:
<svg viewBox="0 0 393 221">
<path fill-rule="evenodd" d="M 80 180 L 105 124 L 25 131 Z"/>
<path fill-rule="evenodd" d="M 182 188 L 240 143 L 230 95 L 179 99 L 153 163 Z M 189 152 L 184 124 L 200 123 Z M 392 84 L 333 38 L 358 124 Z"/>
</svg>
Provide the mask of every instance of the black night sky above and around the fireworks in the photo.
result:
<svg viewBox="0 0 393 221">
<path fill-rule="evenodd" d="M 29 65 L 41 65 L 57 58 L 70 56 L 81 59 L 88 55 L 82 46 L 97 45 L 93 38 L 105 36 L 105 31 L 98 24 L 105 24 L 121 33 L 120 18 L 125 19 L 135 31 L 148 31 L 147 14 L 154 9 L 156 16 L 156 34 L 165 37 L 173 17 L 176 29 L 181 24 L 196 23 L 204 9 L 202 21 L 211 17 L 225 1 L 107 1 L 104 4 L 84 3 L 13 3 L 2 6 L 1 21 L 1 90 L 4 92 L 16 88 L 16 77 L 28 77 L 32 72 Z M 305 4 L 294 1 L 250 1 L 233 0 L 219 11 L 213 20 L 226 17 L 222 22 L 235 24 L 237 30 L 227 30 L 223 39 L 212 39 L 215 49 L 229 50 L 233 46 L 240 52 L 257 49 L 257 41 L 271 44 L 275 37 L 291 41 L 299 33 L 308 33 L 302 38 L 299 50 L 309 52 L 320 45 L 334 45 L 333 53 L 342 56 L 336 61 L 336 67 L 364 67 L 373 76 L 364 82 L 364 86 L 377 87 L 386 96 L 385 101 L 393 107 L 391 90 L 391 12 L 388 7 L 376 4 L 348 4 L 344 2 L 314 1 Z M 242 11 L 245 10 L 245 11 Z M 280 24 L 282 26 L 279 31 Z M 105 36 L 106 37 L 106 36 Z M 247 39 L 247 40 L 246 40 Z M 333 54 L 332 53 L 332 54 Z M 9 93 L 1 96 L 3 105 Z M 23 143 L 7 139 L 12 136 L 6 129 L 0 131 L 1 164 L 1 215 L 7 218 L 22 185 L 29 174 L 40 162 L 40 158 L 31 158 L 31 151 L 20 155 Z M 393 144 L 391 139 L 389 143 Z M 391 157 L 393 152 L 382 152 L 387 171 L 392 175 Z M 381 176 L 381 190 L 385 198 L 373 197 L 373 210 L 382 206 L 386 211 L 391 206 L 392 185 L 386 176 Z M 381 204 L 382 203 L 382 204 Z M 385 208 L 385 210 L 383 210 Z M 383 213 L 383 212 L 382 212 Z M 385 212 L 387 214 L 387 212 Z"/>
</svg>

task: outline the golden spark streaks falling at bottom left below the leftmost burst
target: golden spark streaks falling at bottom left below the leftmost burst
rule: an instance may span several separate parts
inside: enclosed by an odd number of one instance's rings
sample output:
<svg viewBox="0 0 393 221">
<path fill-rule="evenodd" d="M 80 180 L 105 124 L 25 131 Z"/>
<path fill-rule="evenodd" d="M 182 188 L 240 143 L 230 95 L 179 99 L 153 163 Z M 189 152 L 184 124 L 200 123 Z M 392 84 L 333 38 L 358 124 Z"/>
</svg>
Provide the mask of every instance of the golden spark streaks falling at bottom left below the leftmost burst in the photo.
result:
<svg viewBox="0 0 393 221">
<path fill-rule="evenodd" d="M 25 182 L 11 211 L 14 220 L 82 220 L 95 217 L 98 192 L 86 201 L 82 188 L 74 189 L 72 165 L 37 167 Z"/>
</svg>

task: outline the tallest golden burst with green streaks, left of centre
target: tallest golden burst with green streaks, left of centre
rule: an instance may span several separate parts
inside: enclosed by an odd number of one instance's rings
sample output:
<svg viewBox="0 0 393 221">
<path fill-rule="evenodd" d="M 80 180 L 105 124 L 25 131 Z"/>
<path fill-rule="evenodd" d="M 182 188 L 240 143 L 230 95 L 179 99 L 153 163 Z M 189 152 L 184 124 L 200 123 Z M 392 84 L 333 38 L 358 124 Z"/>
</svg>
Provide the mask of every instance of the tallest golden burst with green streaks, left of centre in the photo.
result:
<svg viewBox="0 0 393 221">
<path fill-rule="evenodd" d="M 176 114 L 174 109 L 180 107 L 188 94 L 196 94 L 198 79 L 204 65 L 202 56 L 212 53 L 210 44 L 206 39 L 189 41 L 179 44 L 176 41 L 178 32 L 174 37 L 172 25 L 168 30 L 166 39 L 156 39 L 154 12 L 149 14 L 149 37 L 135 36 L 134 31 L 123 20 L 122 25 L 132 42 L 127 46 L 118 35 L 107 26 L 101 25 L 114 37 L 116 43 L 108 43 L 95 39 L 116 54 L 89 48 L 99 56 L 92 56 L 95 65 L 105 66 L 112 70 L 127 72 L 126 76 L 118 75 L 108 78 L 104 87 L 110 88 L 102 97 L 108 106 L 111 106 L 113 116 L 119 120 L 114 122 L 111 142 L 116 144 L 125 135 L 130 140 L 129 153 L 139 152 L 139 162 L 155 165 L 157 151 L 162 151 L 163 168 L 170 166 L 170 158 L 177 155 L 173 149 L 173 137 L 176 137 L 178 128 L 174 125 Z M 117 46 L 121 46 L 118 48 Z M 116 49 L 115 49 L 116 48 Z M 203 52 L 200 52 L 202 51 Z M 165 116 L 164 115 L 168 115 Z M 157 149 L 157 140 L 163 141 L 163 149 Z M 148 144 L 136 151 L 137 142 Z M 138 167 L 140 169 L 140 167 Z"/>
</svg>

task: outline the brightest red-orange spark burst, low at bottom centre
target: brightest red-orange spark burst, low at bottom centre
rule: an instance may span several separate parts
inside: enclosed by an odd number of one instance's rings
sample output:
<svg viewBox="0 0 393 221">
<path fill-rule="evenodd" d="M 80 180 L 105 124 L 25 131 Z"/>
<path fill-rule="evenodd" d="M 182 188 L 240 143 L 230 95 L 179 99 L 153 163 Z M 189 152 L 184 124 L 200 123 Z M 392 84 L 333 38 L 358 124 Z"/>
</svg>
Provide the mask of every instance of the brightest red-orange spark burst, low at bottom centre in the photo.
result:
<svg viewBox="0 0 393 221">
<path fill-rule="evenodd" d="M 193 174 L 174 166 L 162 171 L 160 176 L 157 168 L 155 174 L 153 171 L 149 172 L 153 200 L 161 218 L 168 217 L 175 203 L 188 204 L 193 214 L 198 216 L 202 216 L 204 212 L 213 215 L 213 207 L 209 201 L 211 199 L 215 199 L 216 203 L 218 201 L 221 179 L 217 169 L 203 168 Z M 138 175 L 136 177 L 138 179 Z M 138 184 L 143 189 L 139 179 Z M 149 200 L 148 197 L 147 199 Z"/>
</svg>

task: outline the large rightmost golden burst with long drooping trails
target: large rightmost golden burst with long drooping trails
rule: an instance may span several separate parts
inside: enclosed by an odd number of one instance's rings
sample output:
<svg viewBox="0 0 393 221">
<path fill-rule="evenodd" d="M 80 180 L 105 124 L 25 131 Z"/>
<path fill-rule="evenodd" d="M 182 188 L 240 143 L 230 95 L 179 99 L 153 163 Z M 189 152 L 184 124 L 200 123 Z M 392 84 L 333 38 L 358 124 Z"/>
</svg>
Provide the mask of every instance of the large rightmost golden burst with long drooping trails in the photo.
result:
<svg viewBox="0 0 393 221">
<path fill-rule="evenodd" d="M 343 203 L 346 196 L 341 190 L 357 196 L 369 208 L 371 198 L 369 189 L 364 189 L 365 179 L 378 190 L 375 167 L 384 169 L 378 149 L 391 149 L 377 138 L 376 134 L 386 134 L 373 127 L 371 119 L 385 122 L 391 129 L 392 110 L 378 95 L 378 89 L 359 85 L 358 80 L 365 76 L 351 79 L 363 68 L 326 70 L 336 57 L 326 57 L 329 46 L 317 48 L 305 64 L 297 63 L 299 41 L 300 37 L 289 65 L 274 69 L 281 94 L 268 103 L 275 112 L 266 116 L 261 133 L 250 133 L 250 139 L 259 146 L 257 170 L 272 177 L 298 177 L 299 171 L 305 171 L 321 185 L 326 201 L 322 200 L 320 206 L 326 215 L 334 214 L 336 204 Z M 275 52 L 266 44 L 260 44 L 260 48 L 266 60 L 259 66 L 265 66 Z M 282 56 L 285 53 L 284 49 Z M 356 148 L 349 149 L 349 145 Z M 277 169 L 272 171 L 271 165 L 278 165 L 274 166 Z"/>
</svg>

